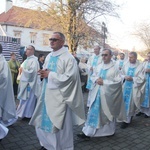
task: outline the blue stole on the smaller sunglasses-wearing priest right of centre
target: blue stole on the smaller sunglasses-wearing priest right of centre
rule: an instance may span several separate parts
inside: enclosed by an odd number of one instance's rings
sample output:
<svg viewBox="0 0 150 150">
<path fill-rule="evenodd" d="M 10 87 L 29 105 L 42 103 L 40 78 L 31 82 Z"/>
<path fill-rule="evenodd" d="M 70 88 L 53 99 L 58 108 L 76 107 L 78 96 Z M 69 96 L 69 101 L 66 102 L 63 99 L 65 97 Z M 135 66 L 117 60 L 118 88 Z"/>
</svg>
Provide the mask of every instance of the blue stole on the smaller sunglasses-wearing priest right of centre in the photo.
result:
<svg viewBox="0 0 150 150">
<path fill-rule="evenodd" d="M 106 73 L 107 70 L 101 69 L 99 76 L 104 80 L 106 79 Z M 101 107 L 100 103 L 101 103 L 101 97 L 100 97 L 100 87 L 99 87 L 96 95 L 96 99 L 93 102 L 91 108 L 89 109 L 89 113 L 87 116 L 86 124 L 90 127 L 97 128 L 99 125 L 100 107 Z"/>
</svg>

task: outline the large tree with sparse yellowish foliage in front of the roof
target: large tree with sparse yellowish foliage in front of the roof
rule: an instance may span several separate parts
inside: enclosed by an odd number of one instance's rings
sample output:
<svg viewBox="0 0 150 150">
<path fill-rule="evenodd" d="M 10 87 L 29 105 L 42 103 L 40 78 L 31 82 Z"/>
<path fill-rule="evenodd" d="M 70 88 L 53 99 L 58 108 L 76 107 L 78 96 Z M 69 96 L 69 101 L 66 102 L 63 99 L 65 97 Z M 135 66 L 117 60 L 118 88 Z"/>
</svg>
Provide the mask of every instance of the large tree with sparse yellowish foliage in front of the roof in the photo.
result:
<svg viewBox="0 0 150 150">
<path fill-rule="evenodd" d="M 70 51 L 76 51 L 79 44 L 101 43 L 102 34 L 96 29 L 98 24 L 101 25 L 96 20 L 98 17 L 119 17 L 116 12 L 119 6 L 111 0 L 26 0 L 31 1 L 37 4 L 40 17 L 35 19 L 35 14 L 30 14 L 27 24 L 39 21 L 41 28 L 63 32 Z"/>
</svg>

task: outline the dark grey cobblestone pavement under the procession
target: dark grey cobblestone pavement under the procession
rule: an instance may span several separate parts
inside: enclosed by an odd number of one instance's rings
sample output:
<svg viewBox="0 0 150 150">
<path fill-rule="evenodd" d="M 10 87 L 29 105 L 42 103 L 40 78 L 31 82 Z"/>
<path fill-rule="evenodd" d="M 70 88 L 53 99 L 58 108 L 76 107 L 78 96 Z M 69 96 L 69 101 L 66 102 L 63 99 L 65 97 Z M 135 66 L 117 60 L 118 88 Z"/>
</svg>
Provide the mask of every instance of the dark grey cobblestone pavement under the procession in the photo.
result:
<svg viewBox="0 0 150 150">
<path fill-rule="evenodd" d="M 84 94 L 87 99 L 87 94 Z M 38 150 L 40 148 L 33 126 L 29 120 L 18 120 L 9 127 L 9 134 L 0 142 L 0 150 Z M 117 129 L 114 136 L 79 139 L 82 126 L 74 127 L 74 150 L 150 150 L 150 118 L 134 117 L 126 129 Z"/>
</svg>

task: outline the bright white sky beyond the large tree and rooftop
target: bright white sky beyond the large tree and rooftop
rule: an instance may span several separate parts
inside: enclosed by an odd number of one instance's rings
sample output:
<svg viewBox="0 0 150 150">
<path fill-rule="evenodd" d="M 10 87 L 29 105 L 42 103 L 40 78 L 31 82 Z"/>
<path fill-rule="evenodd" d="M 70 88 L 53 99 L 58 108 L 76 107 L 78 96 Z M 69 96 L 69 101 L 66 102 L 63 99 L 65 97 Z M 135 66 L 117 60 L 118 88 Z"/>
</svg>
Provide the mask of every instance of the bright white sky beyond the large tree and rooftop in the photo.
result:
<svg viewBox="0 0 150 150">
<path fill-rule="evenodd" d="M 1 0 L 1 6 L 4 0 Z M 150 21 L 150 0 L 115 0 L 123 4 L 119 14 L 120 20 L 109 18 L 105 23 L 109 31 L 108 44 L 132 50 L 144 48 L 135 37 L 131 35 L 136 24 Z M 15 5 L 20 5 L 21 0 L 13 0 Z M 23 7 L 22 5 L 20 5 Z"/>
</svg>

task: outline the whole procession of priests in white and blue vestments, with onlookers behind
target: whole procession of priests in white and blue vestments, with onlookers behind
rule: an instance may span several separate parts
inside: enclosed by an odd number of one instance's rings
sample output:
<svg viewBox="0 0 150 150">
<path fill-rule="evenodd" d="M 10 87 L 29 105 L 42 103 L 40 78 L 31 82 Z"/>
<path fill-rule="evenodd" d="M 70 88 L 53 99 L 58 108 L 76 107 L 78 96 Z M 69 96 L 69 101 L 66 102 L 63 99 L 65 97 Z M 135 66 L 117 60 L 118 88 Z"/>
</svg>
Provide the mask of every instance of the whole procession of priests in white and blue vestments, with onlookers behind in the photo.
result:
<svg viewBox="0 0 150 150">
<path fill-rule="evenodd" d="M 53 51 L 42 66 L 34 46 L 26 48 L 27 58 L 20 63 L 15 53 L 7 62 L 0 45 L 1 142 L 24 118 L 34 126 L 40 150 L 74 150 L 74 134 L 87 142 L 115 137 L 117 124 L 125 130 L 135 116 L 149 119 L 150 52 L 140 62 L 136 52 L 121 52 L 119 58 L 96 45 L 93 55 L 78 64 L 62 33 L 54 32 L 49 41 Z M 74 125 L 82 130 L 74 133 Z"/>
</svg>

